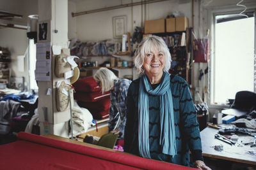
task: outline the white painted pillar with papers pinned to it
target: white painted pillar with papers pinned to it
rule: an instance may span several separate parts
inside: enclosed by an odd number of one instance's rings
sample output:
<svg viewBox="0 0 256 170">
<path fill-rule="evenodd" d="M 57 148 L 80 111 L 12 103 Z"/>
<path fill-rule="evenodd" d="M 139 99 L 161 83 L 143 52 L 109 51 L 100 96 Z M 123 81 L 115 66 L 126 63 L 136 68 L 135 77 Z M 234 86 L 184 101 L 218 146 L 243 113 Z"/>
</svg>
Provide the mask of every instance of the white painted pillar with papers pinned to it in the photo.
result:
<svg viewBox="0 0 256 170">
<path fill-rule="evenodd" d="M 49 21 L 51 23 L 49 42 L 51 45 L 59 45 L 69 53 L 68 47 L 68 1 L 67 0 L 38 0 L 38 22 Z M 40 134 L 50 133 L 68 137 L 68 120 L 70 120 L 69 108 L 65 111 L 56 110 L 56 82 L 64 78 L 57 78 L 54 74 L 55 56 L 52 54 L 51 81 L 38 81 L 38 113 L 40 120 Z M 48 89 L 51 94 L 47 95 Z M 47 108 L 47 120 L 45 123 L 45 110 Z"/>
</svg>

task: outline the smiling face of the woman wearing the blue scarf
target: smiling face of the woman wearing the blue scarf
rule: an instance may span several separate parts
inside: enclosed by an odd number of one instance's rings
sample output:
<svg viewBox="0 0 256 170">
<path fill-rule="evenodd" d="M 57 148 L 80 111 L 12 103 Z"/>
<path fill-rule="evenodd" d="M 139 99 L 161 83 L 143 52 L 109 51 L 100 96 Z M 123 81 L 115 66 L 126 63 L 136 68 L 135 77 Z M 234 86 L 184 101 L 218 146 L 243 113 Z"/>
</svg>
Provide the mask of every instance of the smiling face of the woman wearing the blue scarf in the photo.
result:
<svg viewBox="0 0 256 170">
<path fill-rule="evenodd" d="M 154 49 L 152 52 L 146 53 L 144 57 L 143 67 L 147 76 L 157 76 L 163 74 L 166 57 L 163 52 Z"/>
</svg>

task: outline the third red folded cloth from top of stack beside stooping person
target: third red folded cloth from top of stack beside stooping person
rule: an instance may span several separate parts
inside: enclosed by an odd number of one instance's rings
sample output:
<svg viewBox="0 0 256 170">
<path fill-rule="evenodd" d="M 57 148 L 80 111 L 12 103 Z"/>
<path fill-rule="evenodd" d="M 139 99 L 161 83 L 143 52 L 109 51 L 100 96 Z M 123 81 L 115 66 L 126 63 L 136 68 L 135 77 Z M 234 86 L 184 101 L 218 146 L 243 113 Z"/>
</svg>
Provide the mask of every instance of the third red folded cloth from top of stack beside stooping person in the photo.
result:
<svg viewBox="0 0 256 170">
<path fill-rule="evenodd" d="M 78 101 L 77 104 L 80 107 L 87 108 L 87 109 L 109 110 L 110 99 L 109 97 L 106 97 L 100 101 L 95 101 L 95 102 Z"/>
</svg>

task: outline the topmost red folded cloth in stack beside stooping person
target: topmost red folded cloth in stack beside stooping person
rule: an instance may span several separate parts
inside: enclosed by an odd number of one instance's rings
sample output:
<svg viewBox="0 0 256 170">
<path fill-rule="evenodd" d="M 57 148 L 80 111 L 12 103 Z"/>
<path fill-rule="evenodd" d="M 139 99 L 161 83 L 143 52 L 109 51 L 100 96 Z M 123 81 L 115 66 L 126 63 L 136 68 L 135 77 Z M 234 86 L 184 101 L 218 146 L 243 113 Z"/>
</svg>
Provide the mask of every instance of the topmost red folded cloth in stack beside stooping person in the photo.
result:
<svg viewBox="0 0 256 170">
<path fill-rule="evenodd" d="M 101 90 L 92 76 L 77 80 L 73 86 L 76 91 L 80 92 L 100 92 Z"/>
</svg>

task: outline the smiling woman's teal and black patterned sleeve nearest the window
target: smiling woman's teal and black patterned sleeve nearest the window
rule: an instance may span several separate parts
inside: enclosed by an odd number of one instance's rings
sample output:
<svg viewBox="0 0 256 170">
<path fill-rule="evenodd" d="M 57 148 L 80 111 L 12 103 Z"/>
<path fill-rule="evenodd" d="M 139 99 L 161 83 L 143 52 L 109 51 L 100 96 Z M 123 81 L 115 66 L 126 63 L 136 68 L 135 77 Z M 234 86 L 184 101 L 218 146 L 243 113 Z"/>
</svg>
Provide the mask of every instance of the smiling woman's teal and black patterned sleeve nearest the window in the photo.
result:
<svg viewBox="0 0 256 170">
<path fill-rule="evenodd" d="M 186 142 L 188 142 L 189 150 L 192 153 L 193 160 L 203 160 L 202 143 L 200 138 L 199 124 L 196 119 L 196 110 L 193 99 L 189 92 L 188 84 L 184 81 L 180 85 L 180 114 L 181 124 Z"/>
</svg>

